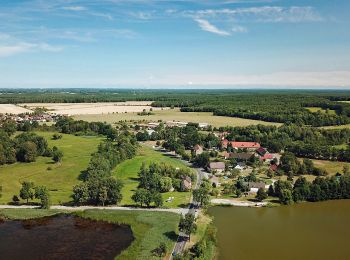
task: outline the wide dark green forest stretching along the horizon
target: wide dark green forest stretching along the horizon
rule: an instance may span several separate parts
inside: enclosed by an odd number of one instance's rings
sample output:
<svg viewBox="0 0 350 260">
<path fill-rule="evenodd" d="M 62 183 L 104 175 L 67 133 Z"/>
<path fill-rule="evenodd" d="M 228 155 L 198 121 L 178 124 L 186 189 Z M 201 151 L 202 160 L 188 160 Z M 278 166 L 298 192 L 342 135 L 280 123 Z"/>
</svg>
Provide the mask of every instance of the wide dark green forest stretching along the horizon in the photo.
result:
<svg viewBox="0 0 350 260">
<path fill-rule="evenodd" d="M 213 112 L 297 125 L 331 126 L 350 123 L 349 91 L 300 90 L 131 90 L 54 89 L 0 90 L 0 103 L 84 103 L 154 101 L 155 107 L 179 107 L 182 112 Z M 318 107 L 310 111 L 308 107 Z"/>
</svg>

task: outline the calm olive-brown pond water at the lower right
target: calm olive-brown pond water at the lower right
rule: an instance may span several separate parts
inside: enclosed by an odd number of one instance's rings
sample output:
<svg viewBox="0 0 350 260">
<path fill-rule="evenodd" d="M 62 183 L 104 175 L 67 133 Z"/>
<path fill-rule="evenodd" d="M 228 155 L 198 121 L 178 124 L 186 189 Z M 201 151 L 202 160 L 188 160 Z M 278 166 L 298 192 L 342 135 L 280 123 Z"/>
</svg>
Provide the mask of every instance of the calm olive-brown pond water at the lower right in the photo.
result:
<svg viewBox="0 0 350 260">
<path fill-rule="evenodd" d="M 209 211 L 219 259 L 350 259 L 350 200 Z"/>
</svg>

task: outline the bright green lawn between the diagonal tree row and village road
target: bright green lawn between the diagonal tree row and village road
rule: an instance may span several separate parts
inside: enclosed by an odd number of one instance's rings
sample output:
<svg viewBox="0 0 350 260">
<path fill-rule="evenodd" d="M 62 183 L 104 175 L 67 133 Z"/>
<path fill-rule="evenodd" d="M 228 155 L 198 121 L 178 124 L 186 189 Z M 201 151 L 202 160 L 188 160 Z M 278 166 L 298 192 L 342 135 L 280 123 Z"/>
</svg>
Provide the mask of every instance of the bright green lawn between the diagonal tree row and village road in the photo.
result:
<svg viewBox="0 0 350 260">
<path fill-rule="evenodd" d="M 154 151 L 152 148 L 142 145 L 139 148 L 138 155 L 134 158 L 124 161 L 117 166 L 113 171 L 113 175 L 122 180 L 124 187 L 122 189 L 123 200 L 122 205 L 135 205 L 131 199 L 132 194 L 137 189 L 138 182 L 138 172 L 142 163 L 145 162 L 149 164 L 151 162 L 164 162 L 170 164 L 174 167 L 187 167 L 181 161 L 173 159 L 171 157 L 165 156 L 160 152 Z M 185 207 L 190 200 L 190 192 L 166 192 L 162 193 L 164 199 L 165 207 Z M 174 197 L 172 202 L 165 202 L 169 197 Z"/>
</svg>

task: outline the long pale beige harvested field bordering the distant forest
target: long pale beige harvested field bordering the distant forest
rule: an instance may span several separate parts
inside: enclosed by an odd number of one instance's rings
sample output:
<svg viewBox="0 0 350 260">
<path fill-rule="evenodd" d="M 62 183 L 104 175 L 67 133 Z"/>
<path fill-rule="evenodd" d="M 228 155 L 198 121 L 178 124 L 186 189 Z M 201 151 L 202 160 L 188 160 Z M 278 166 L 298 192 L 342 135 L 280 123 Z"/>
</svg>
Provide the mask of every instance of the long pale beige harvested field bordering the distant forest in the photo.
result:
<svg viewBox="0 0 350 260">
<path fill-rule="evenodd" d="M 21 106 L 35 108 L 45 107 L 60 115 L 101 115 L 109 113 L 142 112 L 149 111 L 151 101 L 127 101 L 104 103 L 29 103 Z M 160 108 L 153 108 L 159 110 Z"/>
</svg>

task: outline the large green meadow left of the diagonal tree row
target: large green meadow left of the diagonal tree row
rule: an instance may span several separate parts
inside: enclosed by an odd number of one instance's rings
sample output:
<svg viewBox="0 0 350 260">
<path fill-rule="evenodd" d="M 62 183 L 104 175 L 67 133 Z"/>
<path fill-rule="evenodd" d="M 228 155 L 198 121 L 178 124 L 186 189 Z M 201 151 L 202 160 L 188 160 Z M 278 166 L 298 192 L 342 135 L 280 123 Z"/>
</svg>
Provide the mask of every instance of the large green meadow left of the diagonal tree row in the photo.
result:
<svg viewBox="0 0 350 260">
<path fill-rule="evenodd" d="M 62 163 L 54 164 L 51 158 L 38 157 L 33 163 L 15 163 L 0 166 L 0 184 L 3 196 L 0 203 L 8 203 L 12 196 L 19 194 L 21 182 L 32 181 L 47 186 L 53 204 L 69 202 L 72 188 L 79 183 L 78 176 L 85 170 L 91 154 L 97 150 L 100 137 L 78 137 L 63 134 L 59 140 L 51 140 L 52 132 L 38 132 L 45 137 L 49 147 L 57 146 L 64 152 Z M 48 170 L 51 167 L 52 170 Z"/>
</svg>

